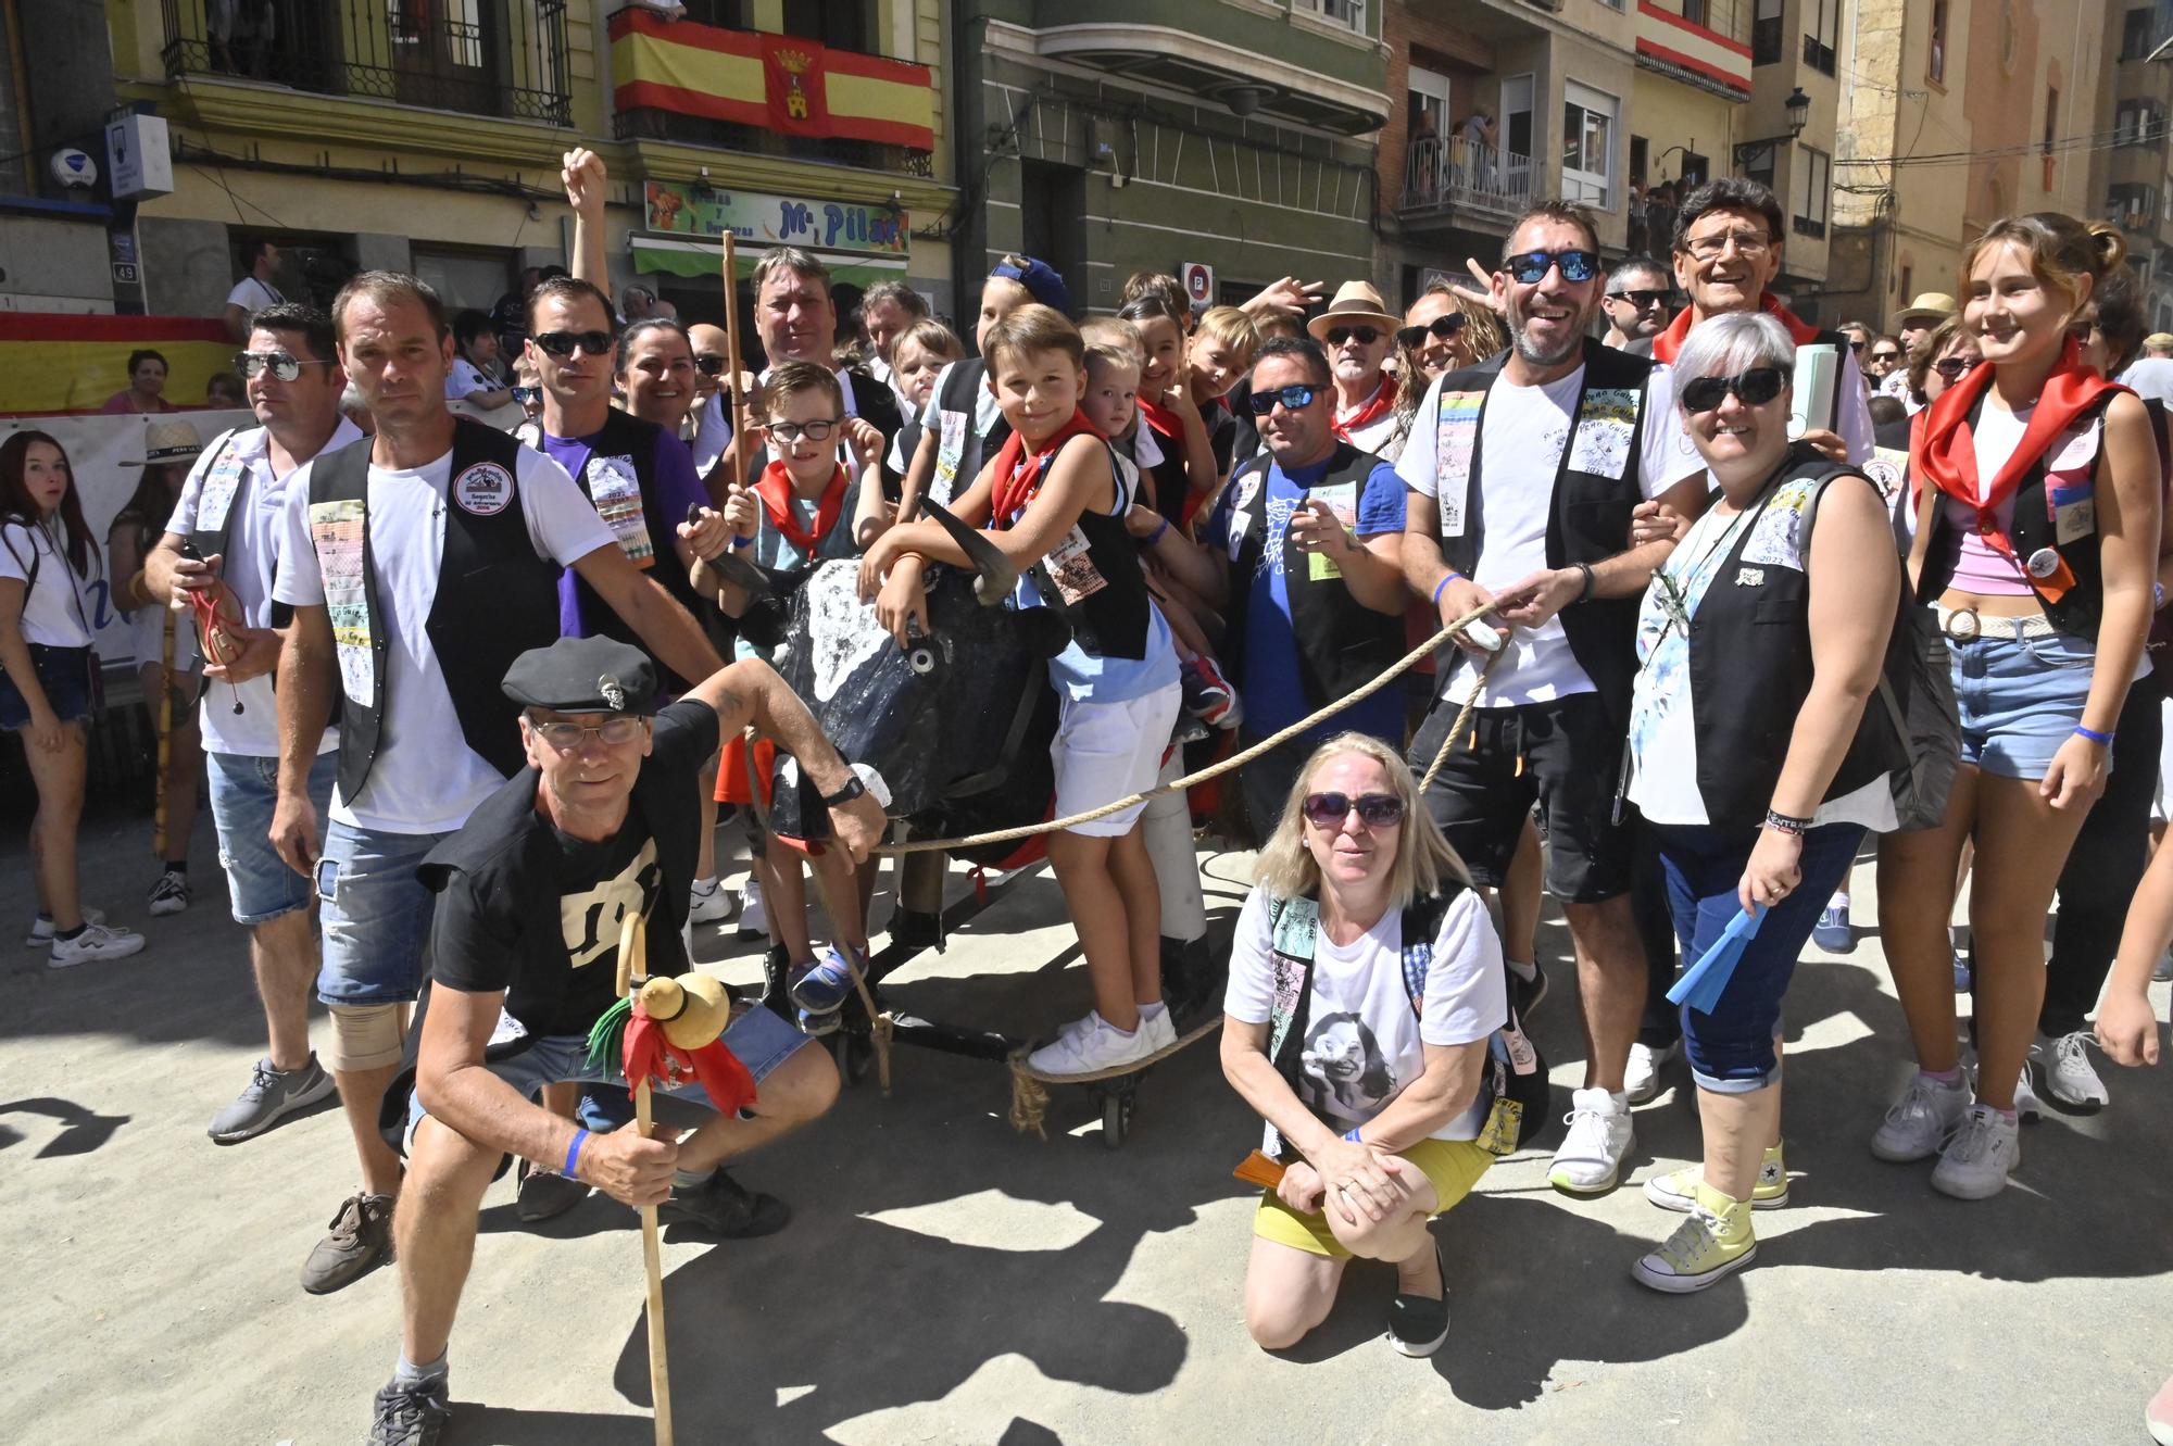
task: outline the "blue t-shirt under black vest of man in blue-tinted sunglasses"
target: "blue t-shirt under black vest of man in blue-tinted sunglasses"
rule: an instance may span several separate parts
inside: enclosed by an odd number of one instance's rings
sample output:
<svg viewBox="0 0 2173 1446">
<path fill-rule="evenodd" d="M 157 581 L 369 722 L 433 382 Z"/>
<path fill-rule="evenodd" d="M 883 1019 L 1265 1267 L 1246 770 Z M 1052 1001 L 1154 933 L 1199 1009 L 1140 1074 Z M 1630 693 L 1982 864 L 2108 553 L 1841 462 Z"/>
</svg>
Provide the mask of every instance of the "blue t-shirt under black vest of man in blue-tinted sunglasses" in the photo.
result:
<svg viewBox="0 0 2173 1446">
<path fill-rule="evenodd" d="M 1297 515 L 1306 495 L 1328 475 L 1328 462 L 1299 467 L 1284 473 L 1278 462 L 1267 467 L 1267 528 L 1260 538 L 1260 567 L 1252 578 L 1232 578 L 1230 586 L 1249 588 L 1245 608 L 1245 675 L 1234 680 L 1245 699 L 1247 738 L 1265 738 L 1282 732 L 1312 712 L 1306 701 L 1306 686 L 1297 677 L 1297 632 L 1291 625 L 1291 584 L 1284 578 L 1284 541 L 1291 532 L 1291 517 Z M 1208 547 L 1232 551 L 1230 521 L 1236 512 L 1241 486 L 1256 484 L 1258 475 L 1232 480 L 1215 504 L 1204 541 Z M 1360 538 L 1382 532 L 1404 530 L 1404 480 L 1395 475 L 1391 462 L 1380 462 L 1367 475 L 1358 497 L 1336 497 L 1323 493 L 1328 506 L 1343 517 Z M 1328 738 L 1332 734 L 1360 732 L 1402 743 L 1404 738 L 1404 690 L 1382 688 L 1371 697 L 1345 708 L 1302 734 L 1302 740 Z"/>
</svg>

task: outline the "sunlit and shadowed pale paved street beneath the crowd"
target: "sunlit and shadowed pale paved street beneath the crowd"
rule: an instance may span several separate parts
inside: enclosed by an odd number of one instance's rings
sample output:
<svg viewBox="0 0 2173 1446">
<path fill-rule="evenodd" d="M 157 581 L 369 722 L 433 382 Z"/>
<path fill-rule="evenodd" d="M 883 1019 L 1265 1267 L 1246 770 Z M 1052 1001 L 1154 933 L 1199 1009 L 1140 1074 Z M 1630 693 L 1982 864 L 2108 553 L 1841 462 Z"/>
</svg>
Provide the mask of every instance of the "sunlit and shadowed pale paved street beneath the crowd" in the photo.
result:
<svg viewBox="0 0 2173 1446">
<path fill-rule="evenodd" d="M 209 827 L 198 903 L 141 918 L 143 825 L 87 825 L 93 903 L 141 927 L 130 962 L 0 968 L 0 1435 L 24 1444 L 359 1442 L 398 1350 L 378 1272 L 304 1296 L 296 1272 L 352 1153 L 337 1114 L 233 1149 L 204 1122 L 263 1049 Z M 1234 910 L 1245 858 L 1204 853 Z M 0 918 L 30 914 L 20 829 Z M 1858 916 L 1871 921 L 1869 868 Z M 958 886 L 963 890 L 963 884 Z M 117 908 L 115 908 L 117 905 Z M 884 905 L 878 903 L 878 916 Z M 704 944 L 728 979 L 754 949 Z M 1567 938 L 1536 1025 L 1573 1081 Z M 2164 986 L 2153 990 L 2160 1016 Z M 917 1014 L 1026 1031 L 1080 1012 L 1084 977 L 1045 875 L 1017 881 L 943 957 L 897 975 Z M 2108 1079 L 2095 1118 L 2025 1129 L 2017 1185 L 1962 1205 L 1864 1138 L 1904 1077 L 1875 938 L 1812 957 L 1788 1003 L 1791 1209 L 1756 1268 L 1662 1298 L 1630 1261 L 1673 1216 L 1621 1190 L 1571 1203 L 1545 1157 L 1497 1166 L 1436 1227 L 1454 1329 L 1432 1361 L 1380 1340 L 1391 1277 L 1356 1270 L 1286 1359 L 1239 1322 L 1252 1201 L 1230 1166 L 1256 1127 L 1213 1042 L 1143 1086 L 1106 1151 L 1078 1090 L 1050 1140 L 1006 1122 L 1000 1066 L 902 1051 L 819 1127 L 750 1159 L 793 1225 L 713 1246 L 667 1233 L 680 1442 L 2060 1442 L 2145 1439 L 2173 1368 L 2173 1070 Z M 1680 1068 L 1680 1066 L 1678 1066 Z M 1641 1109 L 1636 1179 L 1695 1155 L 1684 1077 Z M 1565 1096 L 1567 1105 L 1567 1096 Z M 637 1446 L 650 1437 L 641 1246 L 591 1198 L 541 1231 L 493 1185 L 452 1346 L 448 1442 Z"/>
</svg>

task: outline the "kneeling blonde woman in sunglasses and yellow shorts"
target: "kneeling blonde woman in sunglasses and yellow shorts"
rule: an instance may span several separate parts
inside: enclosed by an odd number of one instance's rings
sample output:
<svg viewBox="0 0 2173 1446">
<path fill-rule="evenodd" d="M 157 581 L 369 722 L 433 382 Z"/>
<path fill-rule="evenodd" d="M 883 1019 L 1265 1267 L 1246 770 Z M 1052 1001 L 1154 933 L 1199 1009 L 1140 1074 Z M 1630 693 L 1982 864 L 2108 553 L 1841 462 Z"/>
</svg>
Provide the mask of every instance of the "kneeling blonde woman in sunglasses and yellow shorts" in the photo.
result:
<svg viewBox="0 0 2173 1446">
<path fill-rule="evenodd" d="M 1365 734 L 1299 769 L 1254 877 L 1221 1064 L 1286 1168 L 1254 1214 L 1245 1329 L 1295 1346 L 1352 1257 L 1384 1259 L 1389 1344 L 1432 1355 L 1449 1307 L 1428 1220 L 1493 1164 L 1475 1140 L 1486 1040 L 1508 1018 L 1502 944 L 1410 769 Z"/>
</svg>

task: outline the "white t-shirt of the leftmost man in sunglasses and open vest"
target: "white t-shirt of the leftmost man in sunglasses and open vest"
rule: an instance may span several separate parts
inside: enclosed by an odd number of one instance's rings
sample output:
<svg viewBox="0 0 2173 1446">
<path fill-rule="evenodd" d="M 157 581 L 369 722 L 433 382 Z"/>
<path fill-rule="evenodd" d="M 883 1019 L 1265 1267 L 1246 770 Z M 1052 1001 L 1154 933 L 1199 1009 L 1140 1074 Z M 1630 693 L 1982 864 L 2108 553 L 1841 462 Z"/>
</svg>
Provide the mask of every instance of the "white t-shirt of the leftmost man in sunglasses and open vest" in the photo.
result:
<svg viewBox="0 0 2173 1446">
<path fill-rule="evenodd" d="M 324 443 L 324 452 L 337 452 L 361 439 L 361 428 L 341 417 L 339 426 L 332 428 L 330 441 Z M 272 439 L 263 428 L 235 432 L 224 447 L 213 443 L 204 456 L 196 458 L 189 480 L 180 486 L 180 502 L 174 504 L 174 517 L 165 525 L 167 532 L 189 536 L 196 530 L 198 512 L 206 521 L 217 521 L 217 512 L 226 510 L 226 558 L 219 562 L 219 578 L 226 582 L 226 595 L 233 599 L 243 627 L 272 625 L 272 580 L 278 571 L 280 515 L 287 502 L 287 484 L 300 473 L 298 467 L 285 478 L 274 475 L 269 443 Z M 224 460 L 222 452 L 226 454 Z M 219 482 L 209 489 L 211 497 L 206 502 L 206 478 L 213 465 L 219 469 Z M 241 506 L 239 512 L 233 510 L 235 504 Z M 176 627 L 187 625 L 191 632 L 196 630 L 196 619 L 187 612 L 178 614 L 174 623 Z M 272 677 L 252 677 L 235 688 L 211 682 L 204 693 L 202 723 L 206 753 L 278 758 L 278 703 L 272 697 Z M 237 699 L 241 712 L 235 712 Z M 335 747 L 339 747 L 339 730 L 328 727 L 317 751 L 326 753 Z"/>
</svg>

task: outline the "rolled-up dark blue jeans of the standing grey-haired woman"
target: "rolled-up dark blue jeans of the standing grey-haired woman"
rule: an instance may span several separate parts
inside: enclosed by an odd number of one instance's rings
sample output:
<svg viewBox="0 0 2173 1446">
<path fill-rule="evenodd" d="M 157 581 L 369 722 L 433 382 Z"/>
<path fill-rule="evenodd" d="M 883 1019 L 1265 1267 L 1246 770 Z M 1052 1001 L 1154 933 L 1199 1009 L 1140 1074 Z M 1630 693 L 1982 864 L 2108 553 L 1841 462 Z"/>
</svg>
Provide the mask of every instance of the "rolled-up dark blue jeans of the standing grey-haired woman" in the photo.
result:
<svg viewBox="0 0 2173 1446">
<path fill-rule="evenodd" d="M 1736 886 L 1743 866 L 1758 842 L 1756 829 L 1717 829 L 1710 825 L 1647 825 L 1660 847 L 1660 868 L 1667 873 L 1667 908 L 1675 916 L 1675 938 L 1682 940 L 1684 966 L 1706 955 L 1728 921 L 1741 912 Z M 1778 905 L 1767 910 L 1758 934 L 1745 944 L 1736 973 L 1721 992 L 1712 1014 L 1682 1005 L 1682 1038 L 1691 1060 L 1691 1077 L 1699 1090 L 1714 1094 L 1749 1094 L 1773 1083 L 1780 1062 L 1773 1055 L 1773 1031 L 1780 1029 L 1780 1001 L 1795 975 L 1795 960 L 1819 923 L 1819 910 L 1856 862 L 1864 829 L 1858 823 L 1832 823 L 1804 834 L 1801 881 Z"/>
</svg>

